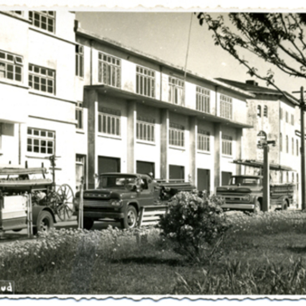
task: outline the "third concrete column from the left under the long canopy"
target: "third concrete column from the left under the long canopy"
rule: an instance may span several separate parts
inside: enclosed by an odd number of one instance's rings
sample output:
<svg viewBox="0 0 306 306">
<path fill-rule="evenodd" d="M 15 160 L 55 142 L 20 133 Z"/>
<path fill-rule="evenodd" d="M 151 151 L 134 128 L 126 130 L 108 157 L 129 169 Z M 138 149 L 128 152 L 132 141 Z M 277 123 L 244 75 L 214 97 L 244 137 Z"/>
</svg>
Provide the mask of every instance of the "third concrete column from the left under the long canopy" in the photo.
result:
<svg viewBox="0 0 306 306">
<path fill-rule="evenodd" d="M 169 110 L 161 110 L 161 179 L 169 179 L 168 148 L 169 148 Z"/>
</svg>

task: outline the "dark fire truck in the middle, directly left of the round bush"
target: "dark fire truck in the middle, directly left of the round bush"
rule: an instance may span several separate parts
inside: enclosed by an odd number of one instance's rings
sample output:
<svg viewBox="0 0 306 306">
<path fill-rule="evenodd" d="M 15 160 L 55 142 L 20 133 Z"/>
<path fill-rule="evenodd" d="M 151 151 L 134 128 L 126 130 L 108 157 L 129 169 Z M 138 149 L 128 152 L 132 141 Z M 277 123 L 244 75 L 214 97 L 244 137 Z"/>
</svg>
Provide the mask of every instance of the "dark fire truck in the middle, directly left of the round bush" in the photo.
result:
<svg viewBox="0 0 306 306">
<path fill-rule="evenodd" d="M 190 183 L 157 183 L 146 174 L 104 173 L 98 187 L 83 193 L 83 226 L 89 230 L 94 221 L 114 219 L 122 228 L 137 226 L 142 208 L 164 206 L 179 191 L 195 189 Z M 79 215 L 80 192 L 75 194 L 74 207 Z"/>
</svg>

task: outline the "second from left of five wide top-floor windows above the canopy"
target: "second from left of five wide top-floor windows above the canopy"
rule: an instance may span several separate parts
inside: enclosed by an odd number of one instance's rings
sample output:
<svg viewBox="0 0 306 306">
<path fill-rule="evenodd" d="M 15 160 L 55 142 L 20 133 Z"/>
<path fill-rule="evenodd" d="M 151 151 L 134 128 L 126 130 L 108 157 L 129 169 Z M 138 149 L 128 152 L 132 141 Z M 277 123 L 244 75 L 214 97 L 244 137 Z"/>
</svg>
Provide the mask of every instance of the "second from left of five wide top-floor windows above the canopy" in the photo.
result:
<svg viewBox="0 0 306 306">
<path fill-rule="evenodd" d="M 136 92 L 148 97 L 155 97 L 155 72 L 136 66 Z"/>
</svg>

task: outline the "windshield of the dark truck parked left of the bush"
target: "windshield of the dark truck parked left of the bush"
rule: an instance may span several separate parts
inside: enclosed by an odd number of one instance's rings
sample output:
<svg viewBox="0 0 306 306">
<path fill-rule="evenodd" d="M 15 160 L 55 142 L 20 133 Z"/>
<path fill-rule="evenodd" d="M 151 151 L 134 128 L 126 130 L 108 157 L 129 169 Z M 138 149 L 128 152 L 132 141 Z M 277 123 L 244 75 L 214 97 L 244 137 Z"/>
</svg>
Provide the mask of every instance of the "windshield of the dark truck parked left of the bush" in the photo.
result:
<svg viewBox="0 0 306 306">
<path fill-rule="evenodd" d="M 99 179 L 99 188 L 108 189 L 126 189 L 133 190 L 134 186 L 138 184 L 138 179 L 135 176 L 114 176 L 114 175 L 102 175 Z"/>
</svg>

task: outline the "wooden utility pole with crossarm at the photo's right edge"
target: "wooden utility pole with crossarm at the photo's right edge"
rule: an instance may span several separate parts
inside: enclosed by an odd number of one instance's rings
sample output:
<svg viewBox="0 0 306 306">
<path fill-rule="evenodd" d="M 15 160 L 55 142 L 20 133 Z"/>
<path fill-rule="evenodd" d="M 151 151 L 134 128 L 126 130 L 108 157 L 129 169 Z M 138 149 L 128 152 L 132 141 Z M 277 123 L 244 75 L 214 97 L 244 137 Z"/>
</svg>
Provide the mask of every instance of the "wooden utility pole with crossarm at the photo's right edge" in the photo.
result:
<svg viewBox="0 0 306 306">
<path fill-rule="evenodd" d="M 301 86 L 300 91 L 293 91 L 292 93 L 300 93 L 300 117 L 301 117 L 301 193 L 302 193 L 302 210 L 306 209 L 306 194 L 305 194 L 305 130 L 304 130 L 304 87 Z"/>
</svg>

